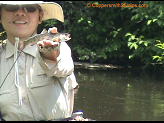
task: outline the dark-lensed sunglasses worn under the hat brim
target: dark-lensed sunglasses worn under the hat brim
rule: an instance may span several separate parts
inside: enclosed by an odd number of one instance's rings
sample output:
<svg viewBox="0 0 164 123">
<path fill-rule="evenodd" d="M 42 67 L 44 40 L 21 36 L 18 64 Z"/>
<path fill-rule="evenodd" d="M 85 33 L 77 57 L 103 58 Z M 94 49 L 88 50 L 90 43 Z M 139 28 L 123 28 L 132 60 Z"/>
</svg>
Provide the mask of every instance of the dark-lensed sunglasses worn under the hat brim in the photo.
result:
<svg viewBox="0 0 164 123">
<path fill-rule="evenodd" d="M 25 12 L 35 12 L 37 8 L 40 10 L 39 5 L 2 5 L 2 7 L 8 12 L 18 11 L 20 6 Z"/>
</svg>

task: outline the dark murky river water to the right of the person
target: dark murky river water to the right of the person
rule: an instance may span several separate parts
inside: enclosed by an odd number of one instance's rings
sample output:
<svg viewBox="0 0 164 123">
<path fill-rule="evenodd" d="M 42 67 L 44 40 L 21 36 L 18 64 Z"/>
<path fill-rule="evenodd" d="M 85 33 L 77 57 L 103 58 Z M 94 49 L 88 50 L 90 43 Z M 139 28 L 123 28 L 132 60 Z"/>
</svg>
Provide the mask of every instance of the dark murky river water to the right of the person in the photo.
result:
<svg viewBox="0 0 164 123">
<path fill-rule="evenodd" d="M 75 69 L 74 111 L 97 121 L 163 121 L 164 80 L 129 70 Z"/>
</svg>

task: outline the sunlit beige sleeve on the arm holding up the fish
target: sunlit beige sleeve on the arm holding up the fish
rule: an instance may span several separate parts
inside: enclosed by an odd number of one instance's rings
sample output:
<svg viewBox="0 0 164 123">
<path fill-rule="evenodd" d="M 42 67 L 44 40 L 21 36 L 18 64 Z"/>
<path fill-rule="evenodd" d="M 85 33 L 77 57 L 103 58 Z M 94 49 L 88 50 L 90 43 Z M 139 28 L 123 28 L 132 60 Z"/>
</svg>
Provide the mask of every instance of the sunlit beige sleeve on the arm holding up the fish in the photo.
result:
<svg viewBox="0 0 164 123">
<path fill-rule="evenodd" d="M 39 51 L 37 53 L 38 61 L 48 76 L 66 77 L 74 71 L 74 63 L 71 56 L 71 49 L 66 42 L 61 42 L 60 54 L 57 62 L 41 57 Z"/>
</svg>

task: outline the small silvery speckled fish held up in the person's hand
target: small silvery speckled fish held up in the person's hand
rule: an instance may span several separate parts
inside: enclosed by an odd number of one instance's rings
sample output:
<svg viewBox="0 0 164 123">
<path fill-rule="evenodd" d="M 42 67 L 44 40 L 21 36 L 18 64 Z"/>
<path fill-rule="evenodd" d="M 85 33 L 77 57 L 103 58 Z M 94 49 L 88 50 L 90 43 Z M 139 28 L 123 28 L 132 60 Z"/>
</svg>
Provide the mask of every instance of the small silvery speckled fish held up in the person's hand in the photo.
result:
<svg viewBox="0 0 164 123">
<path fill-rule="evenodd" d="M 30 37 L 21 44 L 20 49 L 25 48 L 27 45 L 34 45 L 38 41 L 50 40 L 53 42 L 65 42 L 71 39 L 71 34 L 69 33 L 58 33 L 56 28 L 52 28 L 50 31 L 43 29 L 40 34 Z"/>
</svg>

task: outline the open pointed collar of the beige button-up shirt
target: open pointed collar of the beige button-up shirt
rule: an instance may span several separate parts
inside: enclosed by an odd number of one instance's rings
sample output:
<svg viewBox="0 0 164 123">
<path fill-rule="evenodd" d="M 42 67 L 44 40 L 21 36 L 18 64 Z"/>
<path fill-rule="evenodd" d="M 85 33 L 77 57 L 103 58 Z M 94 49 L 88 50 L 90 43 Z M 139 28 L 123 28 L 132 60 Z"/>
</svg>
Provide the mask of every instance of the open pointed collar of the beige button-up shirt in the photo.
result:
<svg viewBox="0 0 164 123">
<path fill-rule="evenodd" d="M 32 55 L 33 57 L 36 57 L 36 50 L 37 45 L 27 45 L 22 52 L 25 52 L 27 54 Z M 7 39 L 7 45 L 6 45 L 6 58 L 11 57 L 14 55 L 14 45 Z"/>
</svg>

